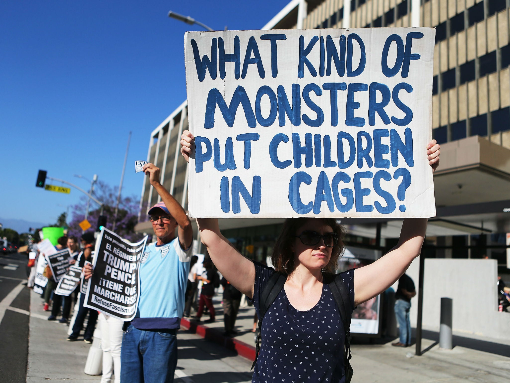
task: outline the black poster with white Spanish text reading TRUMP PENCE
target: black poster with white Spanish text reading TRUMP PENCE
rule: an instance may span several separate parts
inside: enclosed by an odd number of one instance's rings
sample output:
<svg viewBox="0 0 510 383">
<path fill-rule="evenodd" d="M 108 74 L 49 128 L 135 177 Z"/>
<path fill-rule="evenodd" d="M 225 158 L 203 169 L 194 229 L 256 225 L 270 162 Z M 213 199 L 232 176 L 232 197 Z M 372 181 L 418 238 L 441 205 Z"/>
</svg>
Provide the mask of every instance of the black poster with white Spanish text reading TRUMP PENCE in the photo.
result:
<svg viewBox="0 0 510 383">
<path fill-rule="evenodd" d="M 135 317 L 140 293 L 139 266 L 147 237 L 132 244 L 108 229 L 101 230 L 92 262 L 85 307 L 122 321 Z"/>
</svg>

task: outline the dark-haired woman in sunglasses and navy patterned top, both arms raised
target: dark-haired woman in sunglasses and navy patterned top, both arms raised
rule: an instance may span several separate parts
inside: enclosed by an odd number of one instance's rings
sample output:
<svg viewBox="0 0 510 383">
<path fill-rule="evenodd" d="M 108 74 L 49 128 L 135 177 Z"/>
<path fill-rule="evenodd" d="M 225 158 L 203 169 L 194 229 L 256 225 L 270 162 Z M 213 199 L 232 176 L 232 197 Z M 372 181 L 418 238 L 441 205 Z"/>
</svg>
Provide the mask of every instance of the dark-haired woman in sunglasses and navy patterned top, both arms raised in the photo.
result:
<svg viewBox="0 0 510 383">
<path fill-rule="evenodd" d="M 181 145 L 189 160 L 194 155 L 189 131 Z M 433 172 L 439 145 L 432 140 L 426 150 Z M 387 290 L 405 272 L 420 254 L 427 219 L 405 219 L 398 244 L 384 257 L 337 277 L 331 274 L 344 251 L 345 230 L 335 219 L 287 219 L 271 255 L 274 269 L 242 256 L 220 233 L 217 219 L 197 219 L 197 224 L 219 272 L 253 299 L 261 318 L 262 346 L 252 381 L 346 382 L 352 370 L 346 373 L 349 334 L 341 318 L 350 322 L 353 307 Z"/>
</svg>

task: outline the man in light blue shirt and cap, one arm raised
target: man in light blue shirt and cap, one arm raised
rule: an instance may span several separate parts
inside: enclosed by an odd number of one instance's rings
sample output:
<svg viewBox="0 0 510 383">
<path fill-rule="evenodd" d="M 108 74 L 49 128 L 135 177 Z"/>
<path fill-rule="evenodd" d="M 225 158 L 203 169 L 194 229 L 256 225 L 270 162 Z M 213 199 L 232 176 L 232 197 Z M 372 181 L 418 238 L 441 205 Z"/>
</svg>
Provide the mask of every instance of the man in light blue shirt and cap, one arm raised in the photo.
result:
<svg viewBox="0 0 510 383">
<path fill-rule="evenodd" d="M 193 229 L 186 211 L 161 185 L 159 167 L 147 163 L 143 171 L 162 200 L 148 211 L 158 240 L 145 247 L 140 260 L 140 298 L 122 339 L 120 380 L 167 383 L 173 382 L 177 366 L 176 332 L 184 312 Z M 86 269 L 87 275 L 91 268 Z"/>
</svg>

